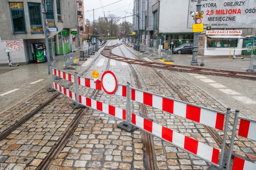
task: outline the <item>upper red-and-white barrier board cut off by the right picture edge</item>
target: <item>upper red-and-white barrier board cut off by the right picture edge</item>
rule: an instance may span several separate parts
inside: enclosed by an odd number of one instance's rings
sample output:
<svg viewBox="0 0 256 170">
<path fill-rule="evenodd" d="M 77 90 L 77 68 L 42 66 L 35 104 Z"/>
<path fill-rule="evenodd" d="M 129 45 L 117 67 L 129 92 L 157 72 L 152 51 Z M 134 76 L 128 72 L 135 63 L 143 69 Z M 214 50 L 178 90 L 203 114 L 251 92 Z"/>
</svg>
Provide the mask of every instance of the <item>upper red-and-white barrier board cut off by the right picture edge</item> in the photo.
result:
<svg viewBox="0 0 256 170">
<path fill-rule="evenodd" d="M 252 140 L 256 140 L 256 123 L 242 119 L 240 120 L 238 135 Z"/>
</svg>

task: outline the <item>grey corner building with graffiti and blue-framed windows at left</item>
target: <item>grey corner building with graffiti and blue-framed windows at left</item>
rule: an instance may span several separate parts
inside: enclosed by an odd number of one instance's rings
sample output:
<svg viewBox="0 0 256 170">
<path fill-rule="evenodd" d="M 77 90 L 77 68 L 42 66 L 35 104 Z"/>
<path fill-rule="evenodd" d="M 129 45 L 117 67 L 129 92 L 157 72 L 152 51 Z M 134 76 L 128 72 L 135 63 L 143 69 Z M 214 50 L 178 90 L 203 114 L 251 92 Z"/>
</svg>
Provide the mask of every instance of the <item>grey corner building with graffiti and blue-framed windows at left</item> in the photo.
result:
<svg viewBox="0 0 256 170">
<path fill-rule="evenodd" d="M 46 9 L 48 21 L 49 49 L 45 47 L 45 21 L 42 9 Z M 37 63 L 35 47 L 43 45 L 44 57 L 63 54 L 70 49 L 70 29 L 76 28 L 76 1 L 48 0 L 42 7 L 41 0 L 9 0 L 2 1 L 0 11 L 0 65 L 6 65 L 10 52 L 13 63 Z M 35 46 L 36 45 L 36 46 Z M 34 48 L 33 48 L 34 47 Z M 38 53 L 39 54 L 39 53 Z"/>
</svg>

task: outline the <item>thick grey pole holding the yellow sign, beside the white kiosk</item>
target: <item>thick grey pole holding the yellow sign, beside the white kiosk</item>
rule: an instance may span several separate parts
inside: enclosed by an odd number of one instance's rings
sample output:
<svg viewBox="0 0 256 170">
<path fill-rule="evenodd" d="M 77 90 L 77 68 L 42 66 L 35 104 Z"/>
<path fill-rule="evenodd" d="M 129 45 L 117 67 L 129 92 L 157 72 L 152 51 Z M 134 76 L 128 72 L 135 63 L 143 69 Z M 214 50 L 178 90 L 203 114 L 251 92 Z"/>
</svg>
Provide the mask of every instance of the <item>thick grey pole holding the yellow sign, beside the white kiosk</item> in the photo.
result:
<svg viewBox="0 0 256 170">
<path fill-rule="evenodd" d="M 201 0 L 197 0 L 197 12 L 201 11 L 202 4 L 200 3 Z M 199 41 L 199 34 L 194 33 L 194 46 L 193 46 L 193 57 L 191 61 L 191 65 L 197 66 L 197 54 L 198 54 L 198 41 Z"/>
</svg>

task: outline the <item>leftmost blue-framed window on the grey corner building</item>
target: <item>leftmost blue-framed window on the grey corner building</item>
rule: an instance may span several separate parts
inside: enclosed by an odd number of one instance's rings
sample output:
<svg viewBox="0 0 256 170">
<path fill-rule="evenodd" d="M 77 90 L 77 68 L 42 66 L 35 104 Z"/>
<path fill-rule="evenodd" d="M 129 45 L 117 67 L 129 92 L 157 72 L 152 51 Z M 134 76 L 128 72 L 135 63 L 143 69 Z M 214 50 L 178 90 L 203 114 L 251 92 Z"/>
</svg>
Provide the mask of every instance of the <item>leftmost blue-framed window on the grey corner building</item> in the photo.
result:
<svg viewBox="0 0 256 170">
<path fill-rule="evenodd" d="M 10 2 L 10 9 L 13 33 L 27 33 L 23 2 Z"/>
</svg>

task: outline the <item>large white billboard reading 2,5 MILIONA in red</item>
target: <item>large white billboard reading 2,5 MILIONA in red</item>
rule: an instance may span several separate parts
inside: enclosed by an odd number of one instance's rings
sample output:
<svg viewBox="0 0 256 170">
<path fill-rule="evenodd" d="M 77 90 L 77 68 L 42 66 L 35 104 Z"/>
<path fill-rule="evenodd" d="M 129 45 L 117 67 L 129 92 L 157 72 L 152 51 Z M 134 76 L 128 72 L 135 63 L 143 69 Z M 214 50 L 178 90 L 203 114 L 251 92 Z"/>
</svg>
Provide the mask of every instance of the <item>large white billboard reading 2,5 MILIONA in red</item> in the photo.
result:
<svg viewBox="0 0 256 170">
<path fill-rule="evenodd" d="M 255 0 L 201 0 L 201 19 L 204 28 L 256 28 Z M 189 0 L 187 28 L 193 28 L 195 20 L 190 16 L 196 11 L 197 0 Z"/>
</svg>

